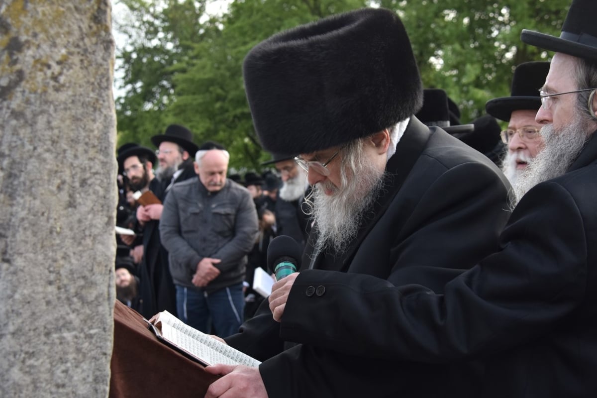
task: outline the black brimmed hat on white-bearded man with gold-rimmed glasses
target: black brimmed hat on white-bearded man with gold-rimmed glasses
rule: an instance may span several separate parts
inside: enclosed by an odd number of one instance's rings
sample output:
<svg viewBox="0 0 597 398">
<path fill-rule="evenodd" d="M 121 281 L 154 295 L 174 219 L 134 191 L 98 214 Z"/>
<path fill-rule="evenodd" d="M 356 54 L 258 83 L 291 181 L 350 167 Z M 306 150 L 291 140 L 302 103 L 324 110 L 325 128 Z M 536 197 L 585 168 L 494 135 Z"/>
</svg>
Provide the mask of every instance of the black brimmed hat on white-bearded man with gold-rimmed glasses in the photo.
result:
<svg viewBox="0 0 597 398">
<path fill-rule="evenodd" d="M 485 110 L 494 118 L 510 121 L 515 110 L 538 110 L 541 107 L 539 89 L 545 84 L 549 62 L 533 61 L 520 64 L 514 70 L 510 97 L 487 101 Z"/>
</svg>

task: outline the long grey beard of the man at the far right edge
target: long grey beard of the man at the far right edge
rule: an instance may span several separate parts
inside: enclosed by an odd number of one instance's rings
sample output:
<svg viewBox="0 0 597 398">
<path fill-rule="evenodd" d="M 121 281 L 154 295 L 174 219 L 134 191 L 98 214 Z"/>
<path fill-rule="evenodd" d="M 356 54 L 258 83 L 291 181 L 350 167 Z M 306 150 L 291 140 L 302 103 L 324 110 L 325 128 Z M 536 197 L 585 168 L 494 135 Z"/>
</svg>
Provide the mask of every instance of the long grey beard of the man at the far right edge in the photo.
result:
<svg viewBox="0 0 597 398">
<path fill-rule="evenodd" d="M 543 149 L 531 159 L 527 168 L 519 176 L 513 189 L 519 202 L 531 188 L 538 183 L 563 175 L 583 150 L 590 134 L 590 127 L 584 119 L 576 118 L 576 122 L 557 131 L 553 125 L 541 128 L 544 140 Z"/>
</svg>

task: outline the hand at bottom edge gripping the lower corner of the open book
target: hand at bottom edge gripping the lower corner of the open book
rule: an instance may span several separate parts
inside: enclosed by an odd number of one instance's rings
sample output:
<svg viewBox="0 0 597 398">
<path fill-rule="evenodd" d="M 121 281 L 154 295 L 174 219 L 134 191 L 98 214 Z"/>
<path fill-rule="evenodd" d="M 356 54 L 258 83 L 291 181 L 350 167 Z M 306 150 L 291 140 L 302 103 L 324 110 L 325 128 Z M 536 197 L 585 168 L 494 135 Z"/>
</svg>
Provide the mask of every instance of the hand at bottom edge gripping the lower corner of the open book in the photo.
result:
<svg viewBox="0 0 597 398">
<path fill-rule="evenodd" d="M 242 365 L 213 365 L 205 368 L 223 377 L 211 383 L 205 398 L 267 398 L 267 391 L 258 368 Z"/>
</svg>

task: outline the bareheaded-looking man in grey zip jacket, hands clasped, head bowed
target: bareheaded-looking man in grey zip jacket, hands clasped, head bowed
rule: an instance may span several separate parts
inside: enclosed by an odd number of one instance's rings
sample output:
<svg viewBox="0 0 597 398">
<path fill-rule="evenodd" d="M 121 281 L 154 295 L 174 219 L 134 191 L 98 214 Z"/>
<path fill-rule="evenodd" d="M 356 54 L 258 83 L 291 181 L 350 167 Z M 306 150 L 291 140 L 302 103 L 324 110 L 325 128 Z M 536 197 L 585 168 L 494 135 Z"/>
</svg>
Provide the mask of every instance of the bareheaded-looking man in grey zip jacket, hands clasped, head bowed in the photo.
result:
<svg viewBox="0 0 597 398">
<path fill-rule="evenodd" d="M 226 179 L 229 159 L 219 144 L 201 146 L 195 155 L 199 178 L 170 189 L 159 224 L 178 317 L 221 337 L 237 332 L 242 323 L 242 281 L 258 231 L 251 194 Z"/>
</svg>

